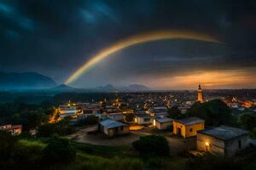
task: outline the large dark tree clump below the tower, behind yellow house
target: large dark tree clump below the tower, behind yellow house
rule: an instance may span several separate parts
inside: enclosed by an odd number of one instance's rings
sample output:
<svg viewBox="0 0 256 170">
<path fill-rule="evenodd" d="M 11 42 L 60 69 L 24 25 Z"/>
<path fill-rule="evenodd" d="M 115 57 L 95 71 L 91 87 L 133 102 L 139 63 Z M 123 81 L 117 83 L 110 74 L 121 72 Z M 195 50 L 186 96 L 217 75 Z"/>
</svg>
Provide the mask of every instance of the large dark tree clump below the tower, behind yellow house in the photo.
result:
<svg viewBox="0 0 256 170">
<path fill-rule="evenodd" d="M 196 102 L 189 109 L 188 116 L 198 116 L 208 126 L 228 125 L 232 122 L 230 108 L 220 99 L 212 99 L 202 104 Z"/>
</svg>

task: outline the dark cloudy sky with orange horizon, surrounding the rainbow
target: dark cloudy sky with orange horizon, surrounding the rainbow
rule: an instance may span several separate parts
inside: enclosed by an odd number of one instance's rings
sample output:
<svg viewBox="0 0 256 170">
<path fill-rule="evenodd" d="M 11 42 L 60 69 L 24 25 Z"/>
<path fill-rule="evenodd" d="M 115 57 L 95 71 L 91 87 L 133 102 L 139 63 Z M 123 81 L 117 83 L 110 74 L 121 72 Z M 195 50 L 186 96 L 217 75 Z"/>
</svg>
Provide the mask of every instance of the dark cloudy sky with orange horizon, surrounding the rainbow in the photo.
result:
<svg viewBox="0 0 256 170">
<path fill-rule="evenodd" d="M 125 48 L 73 83 L 151 88 L 256 88 L 256 2 L 0 0 L 0 71 L 62 83 L 102 48 L 145 31 L 183 29 L 225 44 L 165 40 Z"/>
</svg>

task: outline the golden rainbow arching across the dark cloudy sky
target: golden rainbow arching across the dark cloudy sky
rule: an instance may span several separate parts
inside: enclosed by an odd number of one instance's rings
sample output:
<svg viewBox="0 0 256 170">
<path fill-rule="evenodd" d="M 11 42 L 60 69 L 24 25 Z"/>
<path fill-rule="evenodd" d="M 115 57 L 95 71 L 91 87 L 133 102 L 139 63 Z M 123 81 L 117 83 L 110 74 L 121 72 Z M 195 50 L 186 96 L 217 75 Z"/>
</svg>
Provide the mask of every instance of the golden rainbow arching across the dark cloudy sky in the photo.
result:
<svg viewBox="0 0 256 170">
<path fill-rule="evenodd" d="M 192 39 L 204 42 L 219 42 L 216 38 L 206 34 L 191 32 L 191 31 L 154 31 L 143 34 L 137 34 L 132 37 L 128 37 L 125 40 L 119 41 L 108 48 L 102 49 L 98 54 L 92 56 L 90 60 L 86 61 L 77 71 L 67 78 L 66 84 L 70 84 L 77 80 L 83 73 L 88 71 L 92 66 L 96 65 L 102 59 L 107 58 L 110 54 L 113 54 L 123 48 L 128 48 L 138 43 L 152 42 L 164 39 Z"/>
</svg>

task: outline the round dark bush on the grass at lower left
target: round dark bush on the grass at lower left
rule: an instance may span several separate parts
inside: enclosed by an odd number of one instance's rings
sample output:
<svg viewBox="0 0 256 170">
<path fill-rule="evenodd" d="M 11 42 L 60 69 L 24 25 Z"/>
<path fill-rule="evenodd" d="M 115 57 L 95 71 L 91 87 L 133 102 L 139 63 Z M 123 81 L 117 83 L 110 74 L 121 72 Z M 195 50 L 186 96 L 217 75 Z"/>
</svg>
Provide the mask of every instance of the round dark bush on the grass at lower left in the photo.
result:
<svg viewBox="0 0 256 170">
<path fill-rule="evenodd" d="M 49 164 L 69 163 L 76 157 L 76 150 L 68 139 L 54 137 L 43 150 L 43 161 Z"/>
</svg>

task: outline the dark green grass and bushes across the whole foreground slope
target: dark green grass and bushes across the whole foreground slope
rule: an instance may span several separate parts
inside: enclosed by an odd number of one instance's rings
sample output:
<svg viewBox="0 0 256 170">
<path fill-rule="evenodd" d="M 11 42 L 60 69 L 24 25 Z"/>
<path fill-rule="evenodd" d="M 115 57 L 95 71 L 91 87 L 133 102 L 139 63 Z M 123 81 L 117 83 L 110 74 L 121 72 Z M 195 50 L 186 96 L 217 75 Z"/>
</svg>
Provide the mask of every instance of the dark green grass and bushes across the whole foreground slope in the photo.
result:
<svg viewBox="0 0 256 170">
<path fill-rule="evenodd" d="M 156 138 L 143 139 L 150 145 Z M 0 133 L 0 169 L 90 169 L 90 170 L 139 170 L 139 169 L 255 169 L 254 151 L 247 156 L 224 158 L 221 156 L 168 156 L 162 152 L 153 152 L 141 156 L 131 146 L 101 146 L 80 144 L 53 136 L 47 139 L 12 137 Z M 157 142 L 156 142 L 157 143 Z M 164 155 L 164 156 L 163 156 Z"/>
</svg>

